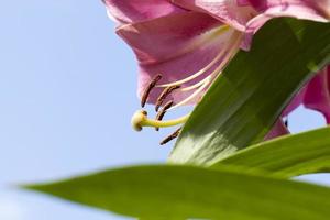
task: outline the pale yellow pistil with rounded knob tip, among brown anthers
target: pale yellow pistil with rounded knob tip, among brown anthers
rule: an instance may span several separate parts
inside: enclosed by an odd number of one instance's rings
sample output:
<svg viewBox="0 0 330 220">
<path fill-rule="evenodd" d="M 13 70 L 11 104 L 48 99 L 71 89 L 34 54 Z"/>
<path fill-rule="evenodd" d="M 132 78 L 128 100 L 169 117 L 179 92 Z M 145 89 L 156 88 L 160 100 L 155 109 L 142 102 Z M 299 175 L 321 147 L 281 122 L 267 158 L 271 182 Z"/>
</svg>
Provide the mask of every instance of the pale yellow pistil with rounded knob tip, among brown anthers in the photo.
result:
<svg viewBox="0 0 330 220">
<path fill-rule="evenodd" d="M 147 118 L 146 111 L 139 110 L 136 111 L 131 120 L 132 127 L 136 131 L 141 131 L 143 127 L 154 127 L 154 128 L 166 128 L 166 127 L 174 127 L 177 124 L 185 123 L 190 114 L 186 114 L 178 119 L 173 119 L 168 121 L 158 121 Z"/>
</svg>

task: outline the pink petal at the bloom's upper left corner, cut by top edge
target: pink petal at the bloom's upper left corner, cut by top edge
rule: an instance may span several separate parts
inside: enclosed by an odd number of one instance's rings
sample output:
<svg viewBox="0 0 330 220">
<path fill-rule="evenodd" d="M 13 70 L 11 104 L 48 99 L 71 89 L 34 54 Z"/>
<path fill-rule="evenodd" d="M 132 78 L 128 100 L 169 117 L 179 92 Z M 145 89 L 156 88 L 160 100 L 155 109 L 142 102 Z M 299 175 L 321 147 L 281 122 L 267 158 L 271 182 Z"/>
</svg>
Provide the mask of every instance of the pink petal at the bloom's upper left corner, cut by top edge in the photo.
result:
<svg viewBox="0 0 330 220">
<path fill-rule="evenodd" d="M 174 6 L 168 0 L 102 1 L 107 7 L 109 16 L 121 24 L 146 21 L 186 11 L 179 7 Z"/>
</svg>

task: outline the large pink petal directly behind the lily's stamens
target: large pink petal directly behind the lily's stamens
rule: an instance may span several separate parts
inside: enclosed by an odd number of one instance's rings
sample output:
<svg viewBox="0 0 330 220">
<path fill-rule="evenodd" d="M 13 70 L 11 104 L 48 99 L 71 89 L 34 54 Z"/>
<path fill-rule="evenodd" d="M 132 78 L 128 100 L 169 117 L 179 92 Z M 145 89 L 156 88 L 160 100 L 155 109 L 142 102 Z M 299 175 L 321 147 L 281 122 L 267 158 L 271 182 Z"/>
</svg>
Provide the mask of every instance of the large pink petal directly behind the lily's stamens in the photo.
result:
<svg viewBox="0 0 330 220">
<path fill-rule="evenodd" d="M 173 82 L 211 63 L 233 33 L 232 29 L 220 33 L 221 26 L 222 23 L 208 14 L 186 12 L 118 29 L 118 34 L 133 48 L 140 63 L 139 96 L 157 74 L 163 75 L 161 84 Z M 211 70 L 184 86 L 199 81 Z M 154 89 L 148 102 L 155 102 L 160 92 L 161 88 Z M 189 92 L 173 95 L 178 102 Z"/>
</svg>

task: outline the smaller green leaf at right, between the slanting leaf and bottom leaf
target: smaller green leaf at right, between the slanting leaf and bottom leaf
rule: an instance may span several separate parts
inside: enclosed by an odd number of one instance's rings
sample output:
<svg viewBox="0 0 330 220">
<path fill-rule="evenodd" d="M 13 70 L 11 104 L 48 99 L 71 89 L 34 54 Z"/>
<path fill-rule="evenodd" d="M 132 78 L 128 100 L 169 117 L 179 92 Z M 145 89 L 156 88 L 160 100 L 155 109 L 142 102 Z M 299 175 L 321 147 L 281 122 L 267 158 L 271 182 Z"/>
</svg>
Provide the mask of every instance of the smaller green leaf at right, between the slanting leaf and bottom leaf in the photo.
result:
<svg viewBox="0 0 330 220">
<path fill-rule="evenodd" d="M 263 142 L 229 156 L 212 167 L 234 165 L 278 177 L 330 172 L 330 128 Z"/>
</svg>

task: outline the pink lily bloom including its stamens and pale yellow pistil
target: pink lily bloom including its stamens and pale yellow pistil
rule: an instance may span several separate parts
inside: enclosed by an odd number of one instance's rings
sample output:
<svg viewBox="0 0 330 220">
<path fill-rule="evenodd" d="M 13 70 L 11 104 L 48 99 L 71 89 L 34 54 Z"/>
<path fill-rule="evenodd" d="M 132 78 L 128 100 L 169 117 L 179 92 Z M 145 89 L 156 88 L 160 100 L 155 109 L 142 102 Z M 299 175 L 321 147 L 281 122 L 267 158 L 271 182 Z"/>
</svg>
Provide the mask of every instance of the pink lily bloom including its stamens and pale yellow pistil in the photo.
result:
<svg viewBox="0 0 330 220">
<path fill-rule="evenodd" d="M 294 16 L 328 22 L 330 0 L 103 0 L 118 22 L 117 34 L 134 51 L 139 62 L 142 107 L 155 105 L 157 117 L 146 111 L 132 118 L 134 129 L 173 127 L 189 116 L 162 121 L 166 111 L 197 103 L 211 82 L 240 48 L 249 50 L 253 34 L 270 19 Z M 327 77 L 329 74 L 326 74 Z M 321 77 L 321 78 L 319 78 Z M 315 82 L 318 81 L 319 82 Z M 330 114 L 329 100 L 314 84 L 324 84 L 322 74 L 306 86 L 287 108 L 300 103 Z M 329 80 L 327 80 L 329 84 Z M 329 87 L 324 90 L 329 96 Z M 316 101 L 315 97 L 319 97 Z M 320 103 L 316 103 L 320 102 Z M 321 103 L 322 102 L 322 103 Z M 327 103 L 326 103 L 327 102 Z M 327 112 L 327 113 L 326 113 Z M 329 122 L 329 118 L 328 122 Z M 179 131 L 165 140 L 175 138 Z M 267 138 L 287 133 L 279 120 Z"/>
</svg>

